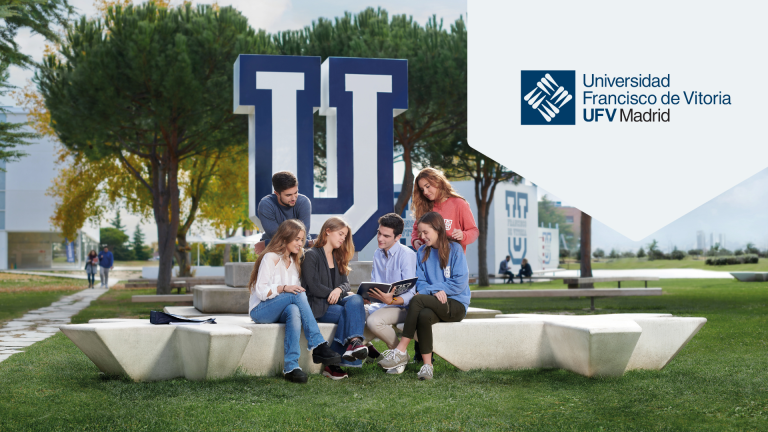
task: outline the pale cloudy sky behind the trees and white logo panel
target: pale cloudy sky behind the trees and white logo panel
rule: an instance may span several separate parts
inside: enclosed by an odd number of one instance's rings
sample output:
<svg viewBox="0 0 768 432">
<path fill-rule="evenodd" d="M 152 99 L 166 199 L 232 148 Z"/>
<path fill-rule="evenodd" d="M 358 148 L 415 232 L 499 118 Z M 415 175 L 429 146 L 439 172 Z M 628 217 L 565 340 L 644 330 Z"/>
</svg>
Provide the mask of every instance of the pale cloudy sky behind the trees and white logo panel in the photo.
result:
<svg viewBox="0 0 768 432">
<path fill-rule="evenodd" d="M 93 0 L 70 0 L 70 2 L 77 8 L 79 14 L 95 16 L 97 13 L 93 6 Z M 173 4 L 180 3 L 181 0 L 173 2 Z M 443 18 L 446 27 L 459 16 L 466 14 L 467 11 L 466 0 L 382 0 L 379 2 L 366 0 L 222 0 L 218 3 L 235 6 L 248 17 L 251 26 L 270 33 L 300 29 L 310 25 L 318 17 L 333 18 L 343 15 L 345 11 L 357 13 L 369 6 L 382 7 L 390 15 L 411 15 L 422 25 L 435 14 L 438 18 Z M 42 58 L 45 41 L 40 36 L 21 32 L 17 41 L 23 52 L 31 54 L 38 61 Z M 32 78 L 32 75 L 33 71 L 31 70 L 12 68 L 10 83 L 23 87 Z M 0 99 L 0 104 L 13 105 L 13 100 L 10 97 L 5 97 Z M 396 182 L 402 179 L 402 173 L 403 164 L 396 164 Z M 536 179 L 529 180 L 536 182 Z M 539 197 L 541 198 L 544 194 L 547 192 L 540 189 Z M 765 223 L 768 214 L 768 200 L 765 199 L 767 196 L 768 169 L 761 171 L 639 242 L 631 241 L 610 227 L 594 220 L 592 244 L 594 248 L 599 247 L 606 251 L 611 248 L 637 250 L 640 246 L 645 247 L 651 240 L 656 239 L 662 249 L 671 250 L 672 247 L 677 246 L 688 250 L 695 246 L 696 231 L 703 230 L 707 240 L 709 233 L 714 233 L 715 238 L 718 234 L 724 233 L 727 238 L 726 246 L 729 249 L 742 247 L 748 241 L 754 242 L 760 248 L 768 248 L 768 226 Z M 551 194 L 548 195 L 548 198 L 557 200 Z M 638 202 L 634 208 L 627 209 L 627 211 L 652 212 L 662 210 L 654 208 L 653 203 Z M 112 217 L 113 214 L 107 215 L 108 219 Z M 146 241 L 151 243 L 157 240 L 156 228 L 151 221 L 140 221 L 139 218 L 125 213 L 121 217 L 129 235 L 132 235 L 137 224 L 141 224 Z M 197 231 L 202 229 L 200 227 Z"/>
</svg>

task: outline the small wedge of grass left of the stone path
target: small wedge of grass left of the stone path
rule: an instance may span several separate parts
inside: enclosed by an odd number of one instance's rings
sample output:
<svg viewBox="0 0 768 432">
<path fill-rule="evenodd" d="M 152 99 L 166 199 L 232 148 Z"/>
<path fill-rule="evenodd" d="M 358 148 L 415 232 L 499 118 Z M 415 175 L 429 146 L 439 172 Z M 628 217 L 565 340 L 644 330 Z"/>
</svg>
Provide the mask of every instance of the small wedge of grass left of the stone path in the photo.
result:
<svg viewBox="0 0 768 432">
<path fill-rule="evenodd" d="M 0 327 L 87 287 L 86 281 L 0 273 Z"/>
</svg>

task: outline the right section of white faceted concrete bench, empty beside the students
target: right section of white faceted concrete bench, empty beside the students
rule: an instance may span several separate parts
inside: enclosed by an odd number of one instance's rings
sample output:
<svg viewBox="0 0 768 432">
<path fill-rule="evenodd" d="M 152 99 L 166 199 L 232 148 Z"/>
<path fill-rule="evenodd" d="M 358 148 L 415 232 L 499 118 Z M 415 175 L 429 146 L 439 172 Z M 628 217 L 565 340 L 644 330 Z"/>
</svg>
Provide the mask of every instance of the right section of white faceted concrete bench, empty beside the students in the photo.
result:
<svg viewBox="0 0 768 432">
<path fill-rule="evenodd" d="M 433 350 L 465 371 L 560 368 L 621 376 L 662 369 L 705 323 L 662 314 L 499 315 L 433 325 Z"/>
</svg>

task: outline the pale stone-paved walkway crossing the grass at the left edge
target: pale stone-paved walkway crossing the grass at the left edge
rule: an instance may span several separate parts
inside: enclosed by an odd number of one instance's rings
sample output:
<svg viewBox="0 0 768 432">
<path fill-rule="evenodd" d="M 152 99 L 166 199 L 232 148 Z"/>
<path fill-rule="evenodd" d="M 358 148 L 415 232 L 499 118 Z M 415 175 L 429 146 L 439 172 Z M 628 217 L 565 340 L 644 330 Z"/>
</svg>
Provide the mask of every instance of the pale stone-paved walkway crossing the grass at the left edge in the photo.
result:
<svg viewBox="0 0 768 432">
<path fill-rule="evenodd" d="M 51 275 L 42 274 L 42 276 Z M 72 278 L 86 279 L 86 276 L 72 276 Z M 109 286 L 116 283 L 117 281 L 110 281 Z M 21 318 L 9 321 L 0 328 L 0 362 L 35 342 L 53 336 L 59 331 L 60 325 L 69 324 L 72 316 L 87 308 L 92 301 L 107 291 L 108 289 L 84 289 L 62 297 L 50 306 L 29 311 Z"/>
</svg>

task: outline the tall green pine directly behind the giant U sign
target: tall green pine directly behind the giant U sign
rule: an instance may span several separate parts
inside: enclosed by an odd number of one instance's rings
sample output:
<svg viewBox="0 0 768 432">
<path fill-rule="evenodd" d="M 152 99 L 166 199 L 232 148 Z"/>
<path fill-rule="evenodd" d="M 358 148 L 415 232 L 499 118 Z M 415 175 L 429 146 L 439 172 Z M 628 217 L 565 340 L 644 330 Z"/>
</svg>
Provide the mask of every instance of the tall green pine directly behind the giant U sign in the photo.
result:
<svg viewBox="0 0 768 432">
<path fill-rule="evenodd" d="M 405 163 L 395 203 L 401 213 L 413 193 L 414 165 L 427 165 L 431 148 L 466 130 L 467 28 L 459 18 L 446 29 L 432 17 L 422 27 L 406 15 L 367 8 L 333 20 L 319 18 L 302 30 L 278 33 L 281 54 L 408 60 L 408 111 L 395 117 L 394 145 Z M 316 178 L 325 177 L 325 119 L 315 120 Z"/>
</svg>

